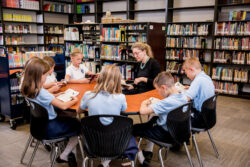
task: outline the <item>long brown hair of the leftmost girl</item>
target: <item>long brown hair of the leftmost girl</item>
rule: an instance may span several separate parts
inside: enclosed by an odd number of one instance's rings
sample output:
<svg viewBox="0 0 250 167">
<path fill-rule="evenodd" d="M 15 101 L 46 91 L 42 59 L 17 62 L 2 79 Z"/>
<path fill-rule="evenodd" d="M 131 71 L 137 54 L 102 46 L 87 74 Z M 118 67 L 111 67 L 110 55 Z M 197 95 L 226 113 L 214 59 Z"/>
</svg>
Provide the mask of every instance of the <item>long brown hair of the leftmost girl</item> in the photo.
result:
<svg viewBox="0 0 250 167">
<path fill-rule="evenodd" d="M 24 69 L 21 93 L 28 98 L 35 98 L 42 88 L 42 75 L 50 70 L 48 63 L 40 58 L 32 59 Z"/>
</svg>

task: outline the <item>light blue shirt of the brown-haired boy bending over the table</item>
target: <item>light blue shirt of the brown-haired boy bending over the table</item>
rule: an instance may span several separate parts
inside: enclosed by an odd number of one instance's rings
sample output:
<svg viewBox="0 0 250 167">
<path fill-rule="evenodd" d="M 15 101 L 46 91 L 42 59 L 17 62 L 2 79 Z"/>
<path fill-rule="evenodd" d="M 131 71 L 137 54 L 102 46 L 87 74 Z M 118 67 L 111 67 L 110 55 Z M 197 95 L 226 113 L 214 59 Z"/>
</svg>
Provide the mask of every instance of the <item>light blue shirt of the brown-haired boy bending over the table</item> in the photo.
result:
<svg viewBox="0 0 250 167">
<path fill-rule="evenodd" d="M 179 93 L 169 95 L 167 98 L 161 100 L 159 103 L 151 104 L 150 107 L 153 109 L 154 113 L 159 116 L 159 118 L 157 119 L 157 125 L 168 131 L 166 125 L 168 113 L 187 102 L 187 97 L 184 94 Z"/>
</svg>

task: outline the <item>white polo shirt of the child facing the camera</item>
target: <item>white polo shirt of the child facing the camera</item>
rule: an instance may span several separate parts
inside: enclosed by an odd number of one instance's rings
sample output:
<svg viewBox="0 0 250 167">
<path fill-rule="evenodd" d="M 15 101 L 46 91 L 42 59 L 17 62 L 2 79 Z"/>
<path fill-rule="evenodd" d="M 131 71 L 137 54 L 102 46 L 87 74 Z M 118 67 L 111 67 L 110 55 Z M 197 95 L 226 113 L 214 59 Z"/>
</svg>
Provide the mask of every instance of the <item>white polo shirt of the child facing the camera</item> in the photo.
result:
<svg viewBox="0 0 250 167">
<path fill-rule="evenodd" d="M 83 64 L 80 64 L 79 68 L 77 68 L 73 64 L 71 64 L 66 69 L 66 75 L 70 76 L 70 80 L 72 80 L 72 79 L 83 79 L 83 78 L 85 78 L 85 75 L 86 75 L 87 72 L 89 72 L 89 70 Z"/>
</svg>

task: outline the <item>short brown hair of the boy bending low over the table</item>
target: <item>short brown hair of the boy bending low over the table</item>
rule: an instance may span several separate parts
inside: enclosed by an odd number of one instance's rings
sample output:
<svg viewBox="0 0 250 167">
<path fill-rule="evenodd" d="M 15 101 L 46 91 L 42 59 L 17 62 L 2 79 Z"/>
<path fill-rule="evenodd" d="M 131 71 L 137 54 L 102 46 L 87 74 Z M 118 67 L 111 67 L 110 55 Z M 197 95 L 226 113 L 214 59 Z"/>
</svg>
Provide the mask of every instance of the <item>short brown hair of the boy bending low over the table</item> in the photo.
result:
<svg viewBox="0 0 250 167">
<path fill-rule="evenodd" d="M 157 85 L 158 87 L 161 85 L 166 85 L 170 88 L 174 86 L 174 77 L 171 75 L 171 73 L 162 71 L 155 77 L 154 85 Z"/>
</svg>

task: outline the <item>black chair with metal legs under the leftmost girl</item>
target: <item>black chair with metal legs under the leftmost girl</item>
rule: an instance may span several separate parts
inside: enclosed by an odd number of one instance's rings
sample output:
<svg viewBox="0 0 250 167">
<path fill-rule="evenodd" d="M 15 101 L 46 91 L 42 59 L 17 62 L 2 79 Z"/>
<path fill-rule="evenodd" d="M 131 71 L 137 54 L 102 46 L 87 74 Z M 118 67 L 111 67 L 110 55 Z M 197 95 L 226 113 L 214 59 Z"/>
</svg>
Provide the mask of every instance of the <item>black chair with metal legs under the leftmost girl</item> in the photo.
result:
<svg viewBox="0 0 250 167">
<path fill-rule="evenodd" d="M 60 144 L 63 144 L 63 142 L 67 140 L 67 137 L 47 139 L 46 128 L 49 122 L 48 112 L 44 107 L 40 106 L 39 104 L 35 102 L 29 101 L 29 103 L 30 103 L 30 133 L 31 135 L 26 143 L 24 152 L 22 154 L 21 163 L 23 162 L 25 153 L 29 145 L 31 144 L 32 140 L 36 139 L 36 144 L 35 144 L 32 156 L 29 160 L 28 167 L 31 166 L 40 143 L 48 144 L 52 146 L 50 157 L 51 157 L 51 167 L 53 167 L 55 164 L 56 157 L 58 156 L 58 150 L 60 148 L 59 146 Z"/>
</svg>

